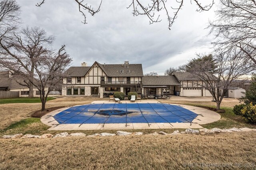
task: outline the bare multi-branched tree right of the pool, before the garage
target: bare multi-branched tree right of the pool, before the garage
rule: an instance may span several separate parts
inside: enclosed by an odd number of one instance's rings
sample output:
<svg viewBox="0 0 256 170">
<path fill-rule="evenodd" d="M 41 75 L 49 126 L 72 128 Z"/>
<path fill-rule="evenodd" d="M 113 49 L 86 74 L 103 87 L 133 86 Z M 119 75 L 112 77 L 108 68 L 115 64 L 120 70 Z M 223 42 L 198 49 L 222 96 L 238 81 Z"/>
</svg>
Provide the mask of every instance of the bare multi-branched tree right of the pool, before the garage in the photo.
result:
<svg viewBox="0 0 256 170">
<path fill-rule="evenodd" d="M 198 85 L 212 94 L 216 102 L 217 110 L 220 109 L 220 104 L 230 84 L 255 69 L 255 64 L 248 62 L 247 59 L 244 58 L 244 55 L 246 54 L 243 53 L 243 51 L 239 51 L 238 53 L 237 51 L 217 51 L 213 57 L 217 66 L 215 74 L 208 72 L 208 69 L 212 68 L 211 62 L 201 61 L 190 67 L 192 75 L 202 80 L 202 84 Z M 220 89 L 223 90 L 222 94 L 220 94 Z"/>
</svg>

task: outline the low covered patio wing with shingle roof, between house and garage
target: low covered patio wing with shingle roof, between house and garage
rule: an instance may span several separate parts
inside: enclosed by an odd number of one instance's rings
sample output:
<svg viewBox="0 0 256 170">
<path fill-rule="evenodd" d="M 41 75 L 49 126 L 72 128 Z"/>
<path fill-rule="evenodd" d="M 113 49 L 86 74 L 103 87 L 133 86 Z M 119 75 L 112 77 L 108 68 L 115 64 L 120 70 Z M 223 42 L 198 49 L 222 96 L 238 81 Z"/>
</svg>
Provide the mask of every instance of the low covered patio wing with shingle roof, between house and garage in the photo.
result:
<svg viewBox="0 0 256 170">
<path fill-rule="evenodd" d="M 171 76 L 144 76 L 142 78 L 144 96 L 173 95 L 180 91 L 180 82 L 174 75 Z"/>
</svg>

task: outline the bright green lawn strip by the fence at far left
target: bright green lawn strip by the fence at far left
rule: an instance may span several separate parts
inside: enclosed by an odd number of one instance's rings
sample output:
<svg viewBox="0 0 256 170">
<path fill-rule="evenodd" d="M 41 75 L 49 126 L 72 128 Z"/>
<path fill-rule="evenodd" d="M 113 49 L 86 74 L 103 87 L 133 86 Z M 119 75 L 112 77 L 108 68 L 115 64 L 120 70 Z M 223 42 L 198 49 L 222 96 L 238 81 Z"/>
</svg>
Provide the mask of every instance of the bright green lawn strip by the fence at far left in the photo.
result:
<svg viewBox="0 0 256 170">
<path fill-rule="evenodd" d="M 47 101 L 54 100 L 53 97 L 48 97 Z M 9 99 L 0 99 L 0 104 L 8 103 L 41 103 L 40 98 L 9 98 Z"/>
</svg>

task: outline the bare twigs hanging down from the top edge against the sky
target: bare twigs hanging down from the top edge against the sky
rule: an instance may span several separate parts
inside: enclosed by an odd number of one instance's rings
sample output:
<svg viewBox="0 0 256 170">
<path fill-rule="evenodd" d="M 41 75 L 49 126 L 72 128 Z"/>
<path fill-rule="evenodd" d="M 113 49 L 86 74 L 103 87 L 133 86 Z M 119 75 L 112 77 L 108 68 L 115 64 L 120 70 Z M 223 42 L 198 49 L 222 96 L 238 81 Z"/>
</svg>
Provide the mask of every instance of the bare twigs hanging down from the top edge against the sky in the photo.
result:
<svg viewBox="0 0 256 170">
<path fill-rule="evenodd" d="M 100 0 L 100 3 L 97 8 L 93 8 L 91 5 L 88 5 L 86 0 L 74 0 L 78 4 L 79 12 L 82 13 L 82 16 L 84 17 L 84 21 L 82 23 L 86 22 L 86 15 L 84 12 L 88 12 L 90 15 L 94 16 L 94 14 L 98 13 L 100 11 L 100 6 L 102 4 L 102 0 Z M 167 2 L 167 0 L 131 0 L 131 4 L 127 8 L 132 8 L 132 14 L 133 16 L 147 16 L 149 19 L 149 23 L 155 23 L 160 22 L 160 13 L 163 12 L 168 21 L 168 28 L 172 27 L 172 24 L 174 23 L 174 20 L 178 16 L 178 12 L 182 9 L 182 6 L 184 4 L 185 0 L 176 0 L 176 2 L 172 1 L 170 4 Z M 202 5 L 200 0 L 191 0 L 196 4 L 198 9 L 196 11 L 202 12 L 202 11 L 208 11 L 210 8 L 212 8 L 212 5 L 214 4 L 214 0 L 212 0 L 209 4 Z M 174 3 L 176 4 L 174 4 Z M 42 4 L 45 3 L 45 0 L 40 0 L 39 3 L 36 4 L 36 6 L 40 7 Z M 170 6 L 170 7 L 168 7 Z"/>
</svg>

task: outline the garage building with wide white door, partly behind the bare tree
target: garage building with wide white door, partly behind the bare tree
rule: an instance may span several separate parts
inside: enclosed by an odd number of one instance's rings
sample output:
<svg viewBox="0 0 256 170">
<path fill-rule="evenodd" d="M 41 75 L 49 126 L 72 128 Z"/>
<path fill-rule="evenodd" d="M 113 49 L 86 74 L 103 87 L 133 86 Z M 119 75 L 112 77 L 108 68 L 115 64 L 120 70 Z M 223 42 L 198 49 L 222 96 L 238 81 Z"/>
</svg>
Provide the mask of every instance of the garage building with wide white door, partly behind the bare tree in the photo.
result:
<svg viewBox="0 0 256 170">
<path fill-rule="evenodd" d="M 180 82 L 181 86 L 178 90 L 180 96 L 212 96 L 208 90 L 202 87 L 202 80 L 196 78 L 190 72 L 173 72 L 172 75 Z"/>
</svg>

